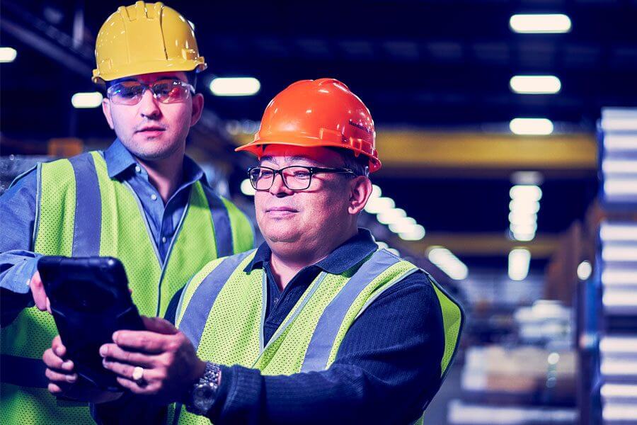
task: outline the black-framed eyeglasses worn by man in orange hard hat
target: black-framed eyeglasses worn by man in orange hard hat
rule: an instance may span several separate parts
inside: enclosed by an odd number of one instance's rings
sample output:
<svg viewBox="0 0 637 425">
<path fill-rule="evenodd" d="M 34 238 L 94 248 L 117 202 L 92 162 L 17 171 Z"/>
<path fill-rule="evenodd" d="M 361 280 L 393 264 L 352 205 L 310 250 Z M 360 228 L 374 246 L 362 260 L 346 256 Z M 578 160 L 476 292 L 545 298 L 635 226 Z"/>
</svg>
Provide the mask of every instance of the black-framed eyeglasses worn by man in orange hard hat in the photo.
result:
<svg viewBox="0 0 637 425">
<path fill-rule="evenodd" d="M 312 183 L 314 174 L 330 173 L 330 174 L 352 174 L 354 171 L 350 169 L 331 169 L 319 166 L 301 166 L 292 165 L 285 166 L 282 169 L 275 170 L 268 166 L 253 166 L 248 169 L 248 177 L 250 183 L 256 191 L 269 191 L 274 184 L 277 174 L 281 175 L 283 184 L 291 191 L 304 191 L 309 188 Z"/>
</svg>

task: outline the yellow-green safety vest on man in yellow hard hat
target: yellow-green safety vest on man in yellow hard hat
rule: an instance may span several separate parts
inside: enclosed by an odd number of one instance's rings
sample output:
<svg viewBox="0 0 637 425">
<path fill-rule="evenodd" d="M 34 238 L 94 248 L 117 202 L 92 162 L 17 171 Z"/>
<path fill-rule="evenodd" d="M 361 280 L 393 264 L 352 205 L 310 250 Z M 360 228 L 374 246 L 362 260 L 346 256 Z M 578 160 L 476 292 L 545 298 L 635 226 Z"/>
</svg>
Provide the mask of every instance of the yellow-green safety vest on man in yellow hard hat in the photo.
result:
<svg viewBox="0 0 637 425">
<path fill-rule="evenodd" d="M 173 295 L 211 259 L 253 247 L 242 212 L 199 181 L 161 261 L 142 204 L 128 183 L 110 179 L 100 152 L 38 165 L 34 251 L 113 256 L 124 264 L 140 314 L 163 316 Z M 47 391 L 42 353 L 57 334 L 47 312 L 23 310 L 1 331 L 1 424 L 94 424 L 88 404 Z"/>
</svg>

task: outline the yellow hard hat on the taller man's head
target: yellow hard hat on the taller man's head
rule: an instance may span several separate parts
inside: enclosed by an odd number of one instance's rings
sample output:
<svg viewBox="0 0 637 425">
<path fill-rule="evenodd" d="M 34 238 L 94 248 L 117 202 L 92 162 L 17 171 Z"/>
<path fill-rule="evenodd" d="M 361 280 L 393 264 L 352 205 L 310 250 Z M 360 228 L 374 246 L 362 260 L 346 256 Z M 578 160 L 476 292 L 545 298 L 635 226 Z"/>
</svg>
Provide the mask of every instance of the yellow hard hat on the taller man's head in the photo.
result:
<svg viewBox="0 0 637 425">
<path fill-rule="evenodd" d="M 95 59 L 95 83 L 207 67 L 190 23 L 173 8 L 144 1 L 120 6 L 108 17 L 97 36 Z"/>
</svg>

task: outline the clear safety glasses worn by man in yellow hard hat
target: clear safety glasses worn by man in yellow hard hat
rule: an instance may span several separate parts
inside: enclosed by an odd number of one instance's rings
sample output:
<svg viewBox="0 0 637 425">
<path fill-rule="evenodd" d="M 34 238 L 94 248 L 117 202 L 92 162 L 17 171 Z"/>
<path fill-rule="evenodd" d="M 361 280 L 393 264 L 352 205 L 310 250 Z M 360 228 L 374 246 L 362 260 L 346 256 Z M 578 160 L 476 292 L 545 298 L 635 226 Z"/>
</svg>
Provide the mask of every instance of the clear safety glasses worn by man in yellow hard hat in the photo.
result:
<svg viewBox="0 0 637 425">
<path fill-rule="evenodd" d="M 150 90 L 154 98 L 161 103 L 183 102 L 195 93 L 192 84 L 180 80 L 160 80 L 153 84 L 122 81 L 110 86 L 106 90 L 106 96 L 116 105 L 137 105 L 147 90 Z"/>
</svg>

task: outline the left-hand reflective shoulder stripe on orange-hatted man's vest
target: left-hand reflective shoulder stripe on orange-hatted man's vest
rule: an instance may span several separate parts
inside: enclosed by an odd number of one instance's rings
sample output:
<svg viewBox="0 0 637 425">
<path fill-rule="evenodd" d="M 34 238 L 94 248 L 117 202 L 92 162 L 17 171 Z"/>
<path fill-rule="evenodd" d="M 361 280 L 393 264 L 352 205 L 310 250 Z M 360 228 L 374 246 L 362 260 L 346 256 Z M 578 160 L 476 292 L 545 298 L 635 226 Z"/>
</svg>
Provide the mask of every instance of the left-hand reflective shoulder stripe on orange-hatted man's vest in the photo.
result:
<svg viewBox="0 0 637 425">
<path fill-rule="evenodd" d="M 202 280 L 193 297 L 190 298 L 190 302 L 188 302 L 186 310 L 183 312 L 182 317 L 184 319 L 181 321 L 179 329 L 183 331 L 185 336 L 188 336 L 188 339 L 195 346 L 195 351 L 199 347 L 203 329 L 206 326 L 210 309 L 214 301 L 217 300 L 217 295 L 219 295 L 226 281 L 234 273 L 241 261 L 253 252 L 254 250 L 246 251 L 224 259 L 219 266 L 215 267 Z"/>
</svg>

